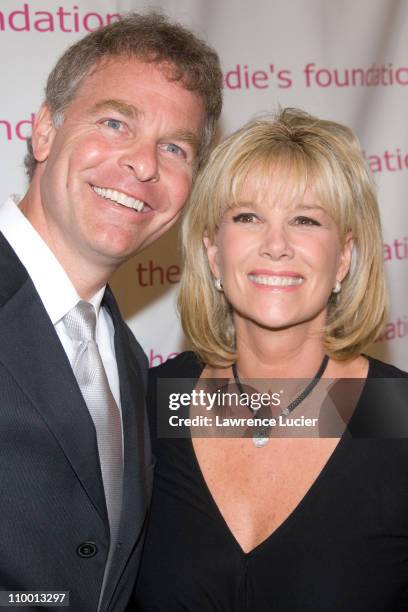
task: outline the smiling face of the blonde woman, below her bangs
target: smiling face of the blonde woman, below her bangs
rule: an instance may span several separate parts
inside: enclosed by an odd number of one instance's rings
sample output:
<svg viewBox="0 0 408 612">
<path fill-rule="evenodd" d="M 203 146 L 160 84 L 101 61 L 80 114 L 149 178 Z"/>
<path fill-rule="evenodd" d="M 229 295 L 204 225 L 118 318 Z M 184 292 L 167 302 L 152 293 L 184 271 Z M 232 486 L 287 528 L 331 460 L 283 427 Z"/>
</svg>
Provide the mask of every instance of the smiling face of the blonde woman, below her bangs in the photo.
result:
<svg viewBox="0 0 408 612">
<path fill-rule="evenodd" d="M 293 202 L 273 188 L 260 192 L 250 180 L 237 204 L 224 213 L 214 244 L 208 238 L 204 242 L 237 332 L 248 323 L 276 330 L 321 329 L 352 251 L 351 235 L 342 244 L 334 220 L 310 190 Z"/>
</svg>

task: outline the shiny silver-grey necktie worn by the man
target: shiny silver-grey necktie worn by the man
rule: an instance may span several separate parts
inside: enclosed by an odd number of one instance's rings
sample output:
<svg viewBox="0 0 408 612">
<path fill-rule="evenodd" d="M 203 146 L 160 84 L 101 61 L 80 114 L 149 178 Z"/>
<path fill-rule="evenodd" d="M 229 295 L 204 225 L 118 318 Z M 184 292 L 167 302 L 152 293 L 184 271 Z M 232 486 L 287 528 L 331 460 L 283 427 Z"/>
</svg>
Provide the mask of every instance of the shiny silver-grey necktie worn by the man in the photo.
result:
<svg viewBox="0 0 408 612">
<path fill-rule="evenodd" d="M 72 340 L 79 341 L 72 369 L 96 429 L 111 535 L 109 566 L 117 543 L 122 507 L 122 420 L 95 342 L 96 313 L 93 305 L 81 300 L 65 315 L 64 323 Z"/>
</svg>

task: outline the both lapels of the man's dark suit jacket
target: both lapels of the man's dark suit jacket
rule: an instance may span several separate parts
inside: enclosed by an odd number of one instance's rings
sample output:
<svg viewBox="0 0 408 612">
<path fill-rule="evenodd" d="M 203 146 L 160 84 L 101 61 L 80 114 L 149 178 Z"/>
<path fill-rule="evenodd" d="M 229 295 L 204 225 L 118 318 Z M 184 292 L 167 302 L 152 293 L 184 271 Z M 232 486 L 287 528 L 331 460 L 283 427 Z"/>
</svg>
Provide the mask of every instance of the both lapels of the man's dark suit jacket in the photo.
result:
<svg viewBox="0 0 408 612">
<path fill-rule="evenodd" d="M 145 414 L 143 367 L 109 288 L 105 293 L 115 327 L 124 433 L 124 497 L 119 539 L 104 593 L 112 598 L 139 541 L 149 502 L 146 467 L 151 463 Z M 89 499 L 108 524 L 95 427 L 68 358 L 35 287 L 0 233 L 0 362 L 55 436 Z M 107 608 L 106 608 L 107 609 Z"/>
</svg>

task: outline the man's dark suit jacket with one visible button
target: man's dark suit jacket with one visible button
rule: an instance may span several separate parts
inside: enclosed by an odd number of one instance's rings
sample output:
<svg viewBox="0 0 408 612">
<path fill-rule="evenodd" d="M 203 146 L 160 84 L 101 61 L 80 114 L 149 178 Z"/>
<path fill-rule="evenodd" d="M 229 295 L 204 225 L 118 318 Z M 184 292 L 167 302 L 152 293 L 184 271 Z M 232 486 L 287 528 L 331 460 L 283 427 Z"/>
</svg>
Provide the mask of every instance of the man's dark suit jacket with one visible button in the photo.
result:
<svg viewBox="0 0 408 612">
<path fill-rule="evenodd" d="M 153 466 L 147 360 L 109 289 L 104 304 L 115 326 L 125 468 L 120 544 L 101 610 L 120 612 L 139 565 Z M 2 234 L 0 478 L 0 590 L 70 591 L 71 610 L 96 612 L 109 526 L 95 428 L 34 285 Z"/>
</svg>

